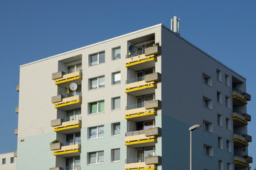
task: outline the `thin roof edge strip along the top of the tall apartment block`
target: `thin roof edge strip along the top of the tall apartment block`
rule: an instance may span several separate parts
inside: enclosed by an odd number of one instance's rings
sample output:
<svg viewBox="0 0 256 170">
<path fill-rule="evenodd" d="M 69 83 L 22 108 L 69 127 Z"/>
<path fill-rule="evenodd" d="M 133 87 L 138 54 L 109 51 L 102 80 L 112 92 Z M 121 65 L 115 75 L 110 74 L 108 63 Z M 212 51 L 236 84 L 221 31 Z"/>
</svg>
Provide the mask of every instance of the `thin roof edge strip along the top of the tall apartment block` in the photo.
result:
<svg viewBox="0 0 256 170">
<path fill-rule="evenodd" d="M 119 38 L 123 38 L 123 37 L 126 37 L 126 36 L 128 36 L 128 35 L 132 35 L 132 34 L 134 34 L 134 33 L 143 32 L 143 31 L 145 31 L 145 30 L 149 30 L 149 29 L 151 29 L 151 28 L 156 28 L 156 27 L 159 27 L 159 26 L 162 26 L 162 27 L 165 28 L 166 30 L 169 30 L 170 33 L 173 33 L 173 34 L 176 35 L 178 38 L 181 38 L 182 40 L 184 40 L 185 42 L 187 42 L 189 45 L 192 45 L 192 46 L 195 47 L 197 50 L 203 52 L 205 55 L 207 55 L 208 57 L 210 57 L 210 58 L 211 58 L 212 60 L 214 60 L 215 62 L 218 62 L 219 64 L 223 65 L 223 67 L 226 67 L 227 69 L 230 69 L 228 66 L 226 66 L 226 65 L 223 64 L 222 62 L 216 60 L 214 57 L 210 56 L 208 53 L 204 52 L 204 51 L 201 50 L 199 47 L 196 47 L 196 45 L 193 45 L 191 42 L 189 42 L 189 41 L 186 40 L 185 38 L 181 37 L 181 35 L 178 35 L 178 34 L 174 33 L 172 30 L 170 30 L 168 27 L 164 26 L 164 24 L 162 24 L 162 23 L 159 23 L 159 24 L 156 24 L 156 25 L 154 25 L 154 26 L 147 27 L 147 28 L 143 28 L 143 29 L 141 29 L 141 30 L 136 30 L 136 31 L 134 31 L 134 32 L 132 32 L 132 33 L 127 33 L 127 34 L 124 34 L 124 35 L 119 35 L 119 36 L 117 36 L 117 37 L 115 37 L 115 38 L 110 38 L 110 39 L 108 39 L 108 40 L 103 40 L 103 41 L 100 41 L 100 42 L 96 42 L 96 43 L 91 44 L 91 45 L 86 45 L 86 46 L 84 46 L 84 47 L 80 47 L 80 48 L 77 48 L 77 49 L 75 49 L 75 50 L 70 50 L 70 51 L 68 51 L 68 52 L 63 52 L 63 53 L 60 53 L 60 54 L 58 54 L 58 55 L 53 55 L 53 56 L 50 56 L 50 57 L 46 57 L 46 58 L 43 58 L 43 59 L 41 59 L 41 60 L 36 60 L 36 61 L 34 61 L 34 62 L 28 62 L 27 64 L 22 64 L 20 67 L 25 67 L 25 66 L 30 65 L 30 64 L 35 64 L 35 63 L 37 63 L 37 62 L 43 62 L 43 61 L 45 61 L 45 60 L 50 60 L 50 59 L 52 59 L 52 58 L 54 58 L 54 57 L 59 57 L 60 55 L 67 55 L 67 54 L 69 54 L 69 53 L 71 53 L 71 52 L 76 52 L 76 51 L 79 51 L 79 50 L 84 50 L 84 49 L 86 49 L 86 48 L 88 48 L 88 47 L 92 47 L 92 46 L 95 46 L 95 45 L 100 45 L 100 44 L 102 44 L 102 43 L 110 42 L 110 41 L 112 41 L 112 40 L 117 40 L 117 39 L 119 39 Z M 242 77 L 240 74 L 238 74 L 237 72 L 235 72 L 233 69 L 230 69 L 230 71 L 233 72 L 233 73 L 235 73 L 235 74 L 237 74 L 238 76 Z M 245 77 L 242 77 L 242 79 L 245 79 Z M 246 80 L 246 79 L 245 79 L 245 80 Z"/>
</svg>

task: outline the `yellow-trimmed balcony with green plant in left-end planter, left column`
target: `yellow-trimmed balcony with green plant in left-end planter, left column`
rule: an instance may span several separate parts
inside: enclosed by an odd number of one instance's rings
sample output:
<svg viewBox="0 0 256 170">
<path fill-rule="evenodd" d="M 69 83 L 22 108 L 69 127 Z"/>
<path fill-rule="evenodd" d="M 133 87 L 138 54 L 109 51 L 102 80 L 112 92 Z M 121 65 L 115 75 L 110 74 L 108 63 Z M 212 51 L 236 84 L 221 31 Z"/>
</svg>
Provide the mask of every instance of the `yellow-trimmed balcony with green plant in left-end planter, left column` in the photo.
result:
<svg viewBox="0 0 256 170">
<path fill-rule="evenodd" d="M 74 142 L 58 142 L 50 145 L 50 150 L 53 150 L 54 156 L 60 157 L 76 157 L 80 155 L 80 141 Z"/>
</svg>

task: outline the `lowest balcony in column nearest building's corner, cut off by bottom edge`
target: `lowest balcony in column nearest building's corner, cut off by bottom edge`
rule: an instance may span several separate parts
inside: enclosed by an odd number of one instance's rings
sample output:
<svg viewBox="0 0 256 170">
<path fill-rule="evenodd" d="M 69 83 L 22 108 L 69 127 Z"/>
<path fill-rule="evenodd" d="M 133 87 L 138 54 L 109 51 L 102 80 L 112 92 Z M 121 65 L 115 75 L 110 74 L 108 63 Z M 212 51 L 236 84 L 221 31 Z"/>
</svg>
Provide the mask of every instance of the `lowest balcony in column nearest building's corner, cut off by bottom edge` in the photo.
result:
<svg viewBox="0 0 256 170">
<path fill-rule="evenodd" d="M 126 159 L 124 169 L 156 170 L 157 164 L 161 164 L 161 157 L 159 156 Z"/>
</svg>

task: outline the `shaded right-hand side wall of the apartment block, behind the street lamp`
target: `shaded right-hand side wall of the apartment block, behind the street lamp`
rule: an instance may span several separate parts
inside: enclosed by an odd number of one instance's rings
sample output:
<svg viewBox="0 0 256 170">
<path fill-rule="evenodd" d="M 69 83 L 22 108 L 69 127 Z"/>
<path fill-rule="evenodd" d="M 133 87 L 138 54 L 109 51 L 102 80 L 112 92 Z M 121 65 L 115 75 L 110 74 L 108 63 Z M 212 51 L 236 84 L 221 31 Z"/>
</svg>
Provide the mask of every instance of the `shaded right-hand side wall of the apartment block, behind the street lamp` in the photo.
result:
<svg viewBox="0 0 256 170">
<path fill-rule="evenodd" d="M 195 124 L 203 126 L 203 120 L 213 124 L 213 132 L 203 128 L 193 131 L 193 169 L 217 169 L 219 159 L 226 169 L 227 162 L 233 164 L 234 151 L 225 148 L 225 140 L 233 141 L 232 103 L 231 108 L 226 108 L 225 96 L 232 98 L 232 76 L 245 79 L 164 27 L 161 68 L 164 169 L 169 165 L 172 169 L 189 168 L 188 128 Z M 217 81 L 217 69 L 222 72 L 221 82 Z M 212 78 L 212 86 L 203 84 L 203 73 Z M 230 76 L 230 86 L 225 86 L 225 74 Z M 217 103 L 217 91 L 222 93 L 222 104 Z M 203 106 L 203 96 L 213 101 L 212 109 Z M 222 127 L 217 123 L 218 113 L 223 115 Z M 225 118 L 230 118 L 231 130 L 225 128 Z M 223 137 L 223 149 L 218 149 L 218 136 Z M 204 154 L 204 144 L 213 147 L 213 157 Z"/>
</svg>

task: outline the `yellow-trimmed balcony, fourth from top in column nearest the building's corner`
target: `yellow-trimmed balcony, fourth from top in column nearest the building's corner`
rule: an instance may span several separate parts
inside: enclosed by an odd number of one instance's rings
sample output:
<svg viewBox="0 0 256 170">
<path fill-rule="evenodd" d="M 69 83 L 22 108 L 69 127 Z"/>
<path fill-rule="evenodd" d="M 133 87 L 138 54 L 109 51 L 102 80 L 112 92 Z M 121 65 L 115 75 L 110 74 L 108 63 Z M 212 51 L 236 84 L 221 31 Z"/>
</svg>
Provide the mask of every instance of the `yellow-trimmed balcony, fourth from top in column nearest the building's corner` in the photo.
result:
<svg viewBox="0 0 256 170">
<path fill-rule="evenodd" d="M 125 145 L 131 147 L 150 147 L 154 145 L 157 136 L 161 135 L 161 128 L 149 128 L 125 133 Z"/>
</svg>

